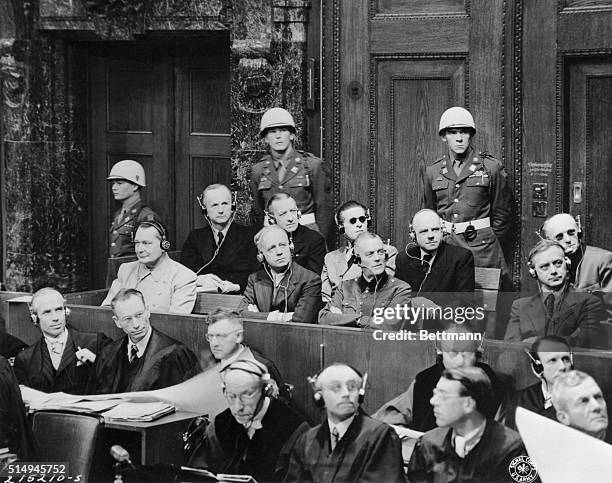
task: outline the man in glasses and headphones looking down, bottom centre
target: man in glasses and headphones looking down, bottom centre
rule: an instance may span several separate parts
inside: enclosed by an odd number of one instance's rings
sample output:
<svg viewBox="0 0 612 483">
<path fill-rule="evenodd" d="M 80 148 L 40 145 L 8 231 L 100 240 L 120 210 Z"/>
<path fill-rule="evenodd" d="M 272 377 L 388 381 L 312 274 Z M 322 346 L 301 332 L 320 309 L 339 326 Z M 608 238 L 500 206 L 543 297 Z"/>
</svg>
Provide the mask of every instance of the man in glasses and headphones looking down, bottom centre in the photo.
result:
<svg viewBox="0 0 612 483">
<path fill-rule="evenodd" d="M 235 360 L 222 377 L 229 408 L 206 427 L 187 465 L 282 481 L 288 454 L 308 424 L 272 395 L 270 374 L 262 363 Z"/>
</svg>

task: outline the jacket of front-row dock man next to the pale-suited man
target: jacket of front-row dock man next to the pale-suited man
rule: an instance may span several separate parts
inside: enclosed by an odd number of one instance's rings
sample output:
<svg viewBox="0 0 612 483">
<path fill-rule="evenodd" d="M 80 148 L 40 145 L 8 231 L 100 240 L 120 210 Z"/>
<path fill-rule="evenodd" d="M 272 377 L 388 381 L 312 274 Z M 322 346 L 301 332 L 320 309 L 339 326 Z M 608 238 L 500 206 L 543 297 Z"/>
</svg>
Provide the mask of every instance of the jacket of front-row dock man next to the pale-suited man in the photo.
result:
<svg viewBox="0 0 612 483">
<path fill-rule="evenodd" d="M 285 290 L 283 287 L 286 287 Z M 244 298 L 238 310 L 243 317 L 265 319 L 270 312 L 293 312 L 293 322 L 313 324 L 321 306 L 321 277 L 310 270 L 292 263 L 276 292 L 270 276 L 262 268 L 249 276 Z M 249 304 L 256 305 L 259 312 L 249 312 Z"/>
</svg>

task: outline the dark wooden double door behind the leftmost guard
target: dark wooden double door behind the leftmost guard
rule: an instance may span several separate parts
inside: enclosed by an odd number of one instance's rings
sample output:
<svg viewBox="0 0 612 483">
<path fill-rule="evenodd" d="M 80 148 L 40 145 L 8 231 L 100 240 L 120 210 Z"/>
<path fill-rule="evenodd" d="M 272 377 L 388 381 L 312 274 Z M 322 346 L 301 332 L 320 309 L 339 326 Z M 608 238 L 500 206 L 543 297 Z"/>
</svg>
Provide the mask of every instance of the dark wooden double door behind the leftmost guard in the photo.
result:
<svg viewBox="0 0 612 483">
<path fill-rule="evenodd" d="M 88 46 L 92 288 L 104 286 L 108 228 L 120 206 L 106 177 L 140 162 L 143 199 L 169 230 L 172 250 L 201 224 L 195 196 L 229 183 L 229 39 Z"/>
</svg>

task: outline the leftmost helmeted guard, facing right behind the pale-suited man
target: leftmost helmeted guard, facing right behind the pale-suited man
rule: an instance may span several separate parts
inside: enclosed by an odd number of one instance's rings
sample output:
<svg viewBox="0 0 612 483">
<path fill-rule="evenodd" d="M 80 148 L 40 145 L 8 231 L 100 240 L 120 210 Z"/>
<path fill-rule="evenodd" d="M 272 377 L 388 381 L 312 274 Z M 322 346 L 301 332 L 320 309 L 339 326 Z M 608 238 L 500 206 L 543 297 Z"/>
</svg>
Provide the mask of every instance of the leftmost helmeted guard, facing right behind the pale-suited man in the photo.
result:
<svg viewBox="0 0 612 483">
<path fill-rule="evenodd" d="M 161 221 L 141 200 L 140 189 L 147 185 L 144 168 L 136 161 L 124 159 L 112 167 L 106 179 L 112 181 L 113 196 L 121 202 L 110 228 L 110 257 L 135 255 L 134 229 L 143 221 Z"/>
</svg>

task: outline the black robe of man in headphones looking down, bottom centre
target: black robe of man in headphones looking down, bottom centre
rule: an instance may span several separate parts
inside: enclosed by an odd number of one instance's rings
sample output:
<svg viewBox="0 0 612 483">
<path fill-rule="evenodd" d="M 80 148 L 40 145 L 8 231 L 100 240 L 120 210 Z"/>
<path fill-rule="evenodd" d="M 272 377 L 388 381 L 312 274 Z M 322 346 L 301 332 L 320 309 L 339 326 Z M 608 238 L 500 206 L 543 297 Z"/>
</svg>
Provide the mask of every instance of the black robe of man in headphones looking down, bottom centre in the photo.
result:
<svg viewBox="0 0 612 483">
<path fill-rule="evenodd" d="M 249 439 L 245 427 L 226 409 L 208 425 L 187 466 L 251 475 L 258 482 L 281 481 L 293 444 L 309 426 L 277 399 L 270 400 L 261 426 Z"/>
</svg>

